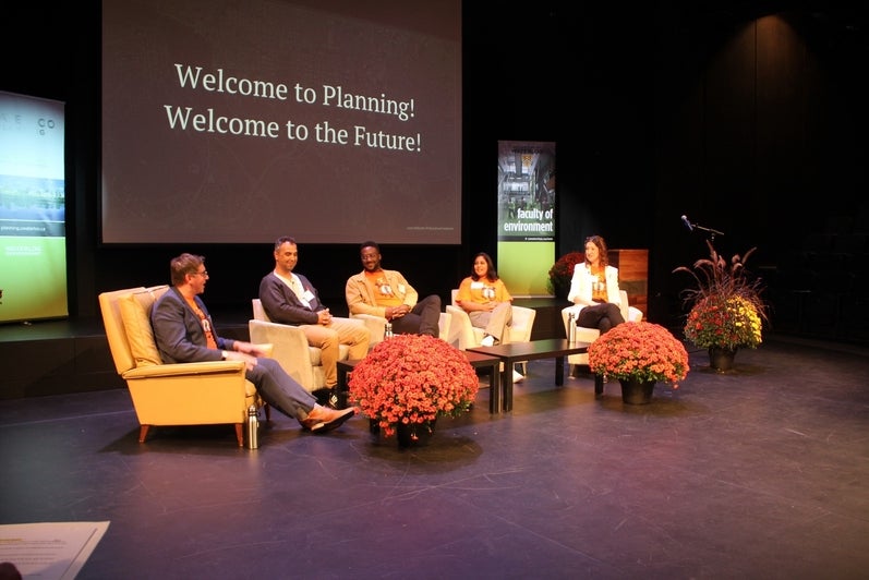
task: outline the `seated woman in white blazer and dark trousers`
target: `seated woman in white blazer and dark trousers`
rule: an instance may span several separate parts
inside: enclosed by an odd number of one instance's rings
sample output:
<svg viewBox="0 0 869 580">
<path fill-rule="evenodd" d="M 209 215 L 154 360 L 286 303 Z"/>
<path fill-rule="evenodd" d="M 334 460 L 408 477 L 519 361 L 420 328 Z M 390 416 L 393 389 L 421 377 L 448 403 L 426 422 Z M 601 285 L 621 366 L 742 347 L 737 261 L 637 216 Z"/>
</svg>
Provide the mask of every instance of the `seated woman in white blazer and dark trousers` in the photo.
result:
<svg viewBox="0 0 869 580">
<path fill-rule="evenodd" d="M 574 267 L 567 300 L 575 304 L 577 326 L 601 334 L 625 322 L 618 289 L 618 268 L 608 264 L 606 242 L 600 235 L 586 239 L 586 261 Z"/>
</svg>

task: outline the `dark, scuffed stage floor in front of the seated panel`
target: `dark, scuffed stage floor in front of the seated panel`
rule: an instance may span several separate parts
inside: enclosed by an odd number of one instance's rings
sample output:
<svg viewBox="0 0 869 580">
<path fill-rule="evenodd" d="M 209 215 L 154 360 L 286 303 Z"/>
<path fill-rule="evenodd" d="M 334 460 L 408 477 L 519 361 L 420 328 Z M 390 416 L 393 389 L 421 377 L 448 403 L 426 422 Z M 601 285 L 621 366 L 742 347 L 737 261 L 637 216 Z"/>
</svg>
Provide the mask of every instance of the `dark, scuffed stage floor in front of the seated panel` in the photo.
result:
<svg viewBox="0 0 869 580">
<path fill-rule="evenodd" d="M 154 427 L 126 389 L 0 401 L 0 521 L 108 521 L 105 578 L 865 578 L 866 352 L 765 341 L 736 368 L 689 351 L 678 389 L 553 384 L 531 361 L 400 450 L 358 416 Z M 485 378 L 483 379 L 485 383 Z"/>
</svg>

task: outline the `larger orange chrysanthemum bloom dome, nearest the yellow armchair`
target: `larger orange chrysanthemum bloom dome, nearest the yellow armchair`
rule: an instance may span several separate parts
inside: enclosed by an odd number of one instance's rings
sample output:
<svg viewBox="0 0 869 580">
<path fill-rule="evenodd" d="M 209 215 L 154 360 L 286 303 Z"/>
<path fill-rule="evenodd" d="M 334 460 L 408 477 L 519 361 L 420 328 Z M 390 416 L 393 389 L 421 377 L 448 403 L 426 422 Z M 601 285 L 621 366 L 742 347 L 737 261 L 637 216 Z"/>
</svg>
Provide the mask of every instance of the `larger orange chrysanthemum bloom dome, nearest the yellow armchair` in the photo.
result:
<svg viewBox="0 0 869 580">
<path fill-rule="evenodd" d="M 397 335 L 357 364 L 350 397 L 385 436 L 399 423 L 429 425 L 458 416 L 476 398 L 480 379 L 459 349 L 427 335 Z"/>
</svg>

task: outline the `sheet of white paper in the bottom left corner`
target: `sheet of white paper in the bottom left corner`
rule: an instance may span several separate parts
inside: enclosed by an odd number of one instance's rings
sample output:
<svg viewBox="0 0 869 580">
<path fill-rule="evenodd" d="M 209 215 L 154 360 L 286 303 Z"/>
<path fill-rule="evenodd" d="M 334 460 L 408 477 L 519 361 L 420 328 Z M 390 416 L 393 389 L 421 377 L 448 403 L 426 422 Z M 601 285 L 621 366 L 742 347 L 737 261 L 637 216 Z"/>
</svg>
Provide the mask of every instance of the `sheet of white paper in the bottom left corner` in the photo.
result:
<svg viewBox="0 0 869 580">
<path fill-rule="evenodd" d="M 24 578 L 72 580 L 108 528 L 108 521 L 0 525 L 0 561 L 14 564 Z"/>
</svg>

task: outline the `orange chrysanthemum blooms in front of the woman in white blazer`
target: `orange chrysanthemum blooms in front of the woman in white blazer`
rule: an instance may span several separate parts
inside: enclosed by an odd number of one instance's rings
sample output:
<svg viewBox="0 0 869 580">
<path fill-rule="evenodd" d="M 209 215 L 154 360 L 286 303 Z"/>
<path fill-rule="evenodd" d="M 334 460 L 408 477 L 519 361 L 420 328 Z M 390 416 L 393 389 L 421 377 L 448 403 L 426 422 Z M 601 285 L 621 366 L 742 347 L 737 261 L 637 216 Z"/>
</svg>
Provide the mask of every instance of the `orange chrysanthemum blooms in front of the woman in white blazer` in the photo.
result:
<svg viewBox="0 0 869 580">
<path fill-rule="evenodd" d="M 688 351 L 661 325 L 624 323 L 589 346 L 589 367 L 618 380 L 672 383 L 688 376 Z"/>
</svg>

